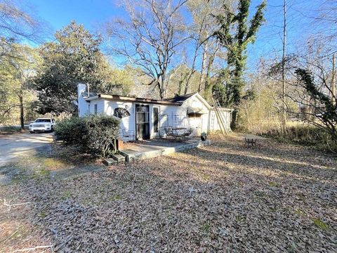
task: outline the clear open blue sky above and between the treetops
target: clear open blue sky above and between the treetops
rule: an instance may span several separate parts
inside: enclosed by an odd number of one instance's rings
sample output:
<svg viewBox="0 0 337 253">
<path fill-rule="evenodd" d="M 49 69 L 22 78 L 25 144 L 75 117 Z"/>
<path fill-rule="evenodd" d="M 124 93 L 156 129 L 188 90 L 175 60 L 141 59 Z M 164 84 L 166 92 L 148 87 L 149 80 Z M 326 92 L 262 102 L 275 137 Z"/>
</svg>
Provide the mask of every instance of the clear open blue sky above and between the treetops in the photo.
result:
<svg viewBox="0 0 337 253">
<path fill-rule="evenodd" d="M 114 0 L 26 0 L 37 15 L 51 25 L 52 32 L 69 24 L 71 20 L 83 23 L 91 31 L 101 23 L 124 15 Z M 262 0 L 252 0 L 252 12 Z M 258 33 L 255 44 L 249 46 L 248 67 L 256 68 L 260 57 L 273 58 L 282 48 L 282 0 L 267 1 L 266 22 Z M 295 51 L 309 34 L 315 32 L 311 16 L 319 8 L 320 0 L 288 0 L 288 50 Z"/>
</svg>

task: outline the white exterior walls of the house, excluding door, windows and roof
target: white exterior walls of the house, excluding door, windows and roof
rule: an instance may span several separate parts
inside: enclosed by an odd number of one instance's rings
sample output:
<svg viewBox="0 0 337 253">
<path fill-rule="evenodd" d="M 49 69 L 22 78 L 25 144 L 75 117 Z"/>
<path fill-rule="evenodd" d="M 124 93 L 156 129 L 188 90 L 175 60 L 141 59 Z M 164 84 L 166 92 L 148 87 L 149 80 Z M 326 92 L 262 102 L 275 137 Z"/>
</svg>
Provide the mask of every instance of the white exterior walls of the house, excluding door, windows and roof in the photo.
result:
<svg viewBox="0 0 337 253">
<path fill-rule="evenodd" d="M 106 115 L 114 115 L 116 108 L 125 108 L 130 112 L 129 117 L 121 119 L 120 123 L 120 137 L 124 141 L 133 141 L 136 139 L 136 105 L 149 105 L 150 112 L 150 138 L 158 136 L 165 136 L 164 128 L 182 127 L 192 129 L 192 135 L 199 136 L 202 132 L 209 132 L 220 130 L 216 113 L 211 106 L 199 94 L 195 94 L 187 98 L 182 105 L 158 105 L 152 103 L 138 103 L 138 102 L 123 102 L 116 100 L 109 100 L 106 98 L 98 98 L 91 100 L 91 103 L 86 102 L 82 93 L 86 91 L 85 84 L 78 86 L 78 102 L 79 102 L 79 116 L 93 114 L 95 112 L 95 105 L 97 105 L 97 113 L 105 113 Z M 154 133 L 154 115 L 153 108 L 159 108 L 159 133 Z M 197 108 L 202 110 L 202 115 L 187 115 L 188 108 Z M 230 110 L 223 109 L 223 118 L 225 124 L 230 126 Z"/>
</svg>

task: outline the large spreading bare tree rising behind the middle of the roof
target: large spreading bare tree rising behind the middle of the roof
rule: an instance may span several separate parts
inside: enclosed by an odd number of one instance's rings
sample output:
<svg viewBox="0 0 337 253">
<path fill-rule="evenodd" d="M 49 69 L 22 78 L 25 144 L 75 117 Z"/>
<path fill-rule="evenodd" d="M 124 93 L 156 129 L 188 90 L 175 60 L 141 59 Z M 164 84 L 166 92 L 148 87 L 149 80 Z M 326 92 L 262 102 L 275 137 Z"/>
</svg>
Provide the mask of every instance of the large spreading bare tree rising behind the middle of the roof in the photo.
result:
<svg viewBox="0 0 337 253">
<path fill-rule="evenodd" d="M 128 13 L 105 27 L 112 53 L 137 65 L 151 78 L 160 98 L 166 97 L 173 56 L 187 39 L 181 9 L 187 0 L 124 0 Z M 178 57 L 177 57 L 178 58 Z"/>
</svg>

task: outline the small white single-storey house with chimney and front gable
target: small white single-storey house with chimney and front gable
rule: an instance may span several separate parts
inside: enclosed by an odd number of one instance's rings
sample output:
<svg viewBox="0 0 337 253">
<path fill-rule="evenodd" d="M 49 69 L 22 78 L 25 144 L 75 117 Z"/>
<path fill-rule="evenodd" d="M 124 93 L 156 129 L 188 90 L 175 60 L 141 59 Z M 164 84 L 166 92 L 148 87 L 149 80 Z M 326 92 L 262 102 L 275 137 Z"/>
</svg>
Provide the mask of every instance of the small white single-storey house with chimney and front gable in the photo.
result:
<svg viewBox="0 0 337 253">
<path fill-rule="evenodd" d="M 92 94 L 86 84 L 79 84 L 79 117 L 104 113 L 121 120 L 120 136 L 124 141 L 159 138 L 169 134 L 200 136 L 220 130 L 216 110 L 199 93 L 166 100 Z M 220 115 L 230 128 L 232 110 L 221 108 Z"/>
</svg>

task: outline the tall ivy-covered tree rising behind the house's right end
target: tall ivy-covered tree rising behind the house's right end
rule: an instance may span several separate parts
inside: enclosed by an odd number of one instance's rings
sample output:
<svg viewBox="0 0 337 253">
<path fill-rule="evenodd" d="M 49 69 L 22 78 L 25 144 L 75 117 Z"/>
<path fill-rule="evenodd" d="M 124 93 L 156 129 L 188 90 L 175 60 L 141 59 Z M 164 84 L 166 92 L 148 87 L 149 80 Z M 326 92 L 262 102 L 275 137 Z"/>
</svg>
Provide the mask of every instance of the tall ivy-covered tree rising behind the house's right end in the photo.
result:
<svg viewBox="0 0 337 253">
<path fill-rule="evenodd" d="M 249 43 L 255 41 L 256 33 L 264 22 L 265 5 L 265 1 L 263 1 L 257 7 L 257 11 L 250 22 L 248 18 L 251 0 L 239 0 L 237 13 L 232 13 L 230 7 L 225 3 L 222 13 L 215 15 L 220 27 L 213 35 L 227 49 L 227 67 L 221 72 L 219 82 L 214 86 L 213 92 L 220 98 L 220 103 L 234 106 L 233 128 L 235 128 L 237 121 L 237 106 L 242 98 L 244 88 L 243 74 L 246 67 L 246 48 Z"/>
</svg>

